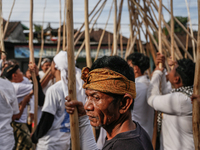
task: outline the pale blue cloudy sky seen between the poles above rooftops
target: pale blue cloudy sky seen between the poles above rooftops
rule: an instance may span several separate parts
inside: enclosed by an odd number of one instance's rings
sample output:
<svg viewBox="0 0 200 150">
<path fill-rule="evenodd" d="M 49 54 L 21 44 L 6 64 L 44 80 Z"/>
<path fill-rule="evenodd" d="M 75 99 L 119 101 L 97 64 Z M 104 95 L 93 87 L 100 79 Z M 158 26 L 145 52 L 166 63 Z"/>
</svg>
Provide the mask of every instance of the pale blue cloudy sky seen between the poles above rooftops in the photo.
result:
<svg viewBox="0 0 200 150">
<path fill-rule="evenodd" d="M 99 0 L 88 0 L 89 12 L 94 8 L 94 6 L 96 5 L 98 1 Z M 118 1 L 118 6 L 119 6 L 120 1 L 119 0 L 117 1 Z M 156 2 L 158 3 L 159 1 L 156 0 Z M 193 30 L 197 30 L 197 27 L 198 27 L 197 26 L 198 24 L 197 0 L 187 0 L 187 2 L 190 9 L 190 18 L 192 22 L 192 28 Z M 102 3 L 103 3 L 103 0 L 101 0 L 100 5 Z M 13 0 L 2 0 L 3 18 L 5 20 L 8 19 L 12 4 L 13 4 Z M 112 0 L 107 0 L 102 14 L 94 26 L 95 28 L 103 29 L 105 27 L 105 23 L 108 18 L 111 4 L 112 4 Z M 170 9 L 170 0 L 163 0 L 163 4 L 168 9 Z M 62 21 L 63 21 L 64 0 L 61 0 L 61 5 L 62 5 Z M 45 6 L 45 0 L 34 0 L 33 23 L 42 25 L 44 6 Z M 46 28 L 48 22 L 51 23 L 52 28 L 59 27 L 59 21 L 60 21 L 59 7 L 60 7 L 59 0 L 46 0 L 44 28 Z M 29 27 L 29 13 L 30 13 L 29 10 L 30 10 L 29 0 L 16 0 L 10 21 L 21 21 L 21 23 Z M 182 17 L 188 16 L 185 0 L 174 0 L 173 10 L 174 10 L 174 16 L 182 16 Z M 168 22 L 170 20 L 170 14 L 164 8 L 163 8 L 162 13 L 164 15 L 165 20 Z M 80 28 L 80 26 L 84 22 L 84 0 L 73 0 L 73 17 L 74 17 L 74 29 Z M 113 32 L 113 22 L 114 22 L 114 8 L 112 9 L 112 13 L 111 13 L 106 30 Z M 124 0 L 124 4 L 123 4 L 122 18 L 121 18 L 121 33 L 123 36 L 126 36 L 126 37 L 129 37 L 130 35 L 127 0 Z M 144 36 L 142 36 L 142 39 L 144 39 Z"/>
</svg>

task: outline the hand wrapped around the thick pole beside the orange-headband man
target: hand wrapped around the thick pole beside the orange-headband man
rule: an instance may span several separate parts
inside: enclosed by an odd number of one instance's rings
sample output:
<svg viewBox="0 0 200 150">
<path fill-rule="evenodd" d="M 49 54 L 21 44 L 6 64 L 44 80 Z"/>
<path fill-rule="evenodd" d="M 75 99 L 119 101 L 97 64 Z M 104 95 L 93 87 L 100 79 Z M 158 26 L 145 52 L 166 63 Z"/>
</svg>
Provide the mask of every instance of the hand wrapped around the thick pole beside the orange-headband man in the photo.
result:
<svg viewBox="0 0 200 150">
<path fill-rule="evenodd" d="M 77 107 L 78 116 L 79 116 L 79 117 L 86 115 L 86 111 L 85 111 L 85 109 L 84 109 L 84 106 L 83 106 L 83 103 L 82 103 L 82 102 L 79 102 L 79 101 L 72 101 L 72 100 L 69 98 L 69 96 L 65 97 L 65 99 L 67 100 L 67 101 L 65 102 L 65 109 L 66 109 L 67 113 L 73 114 L 73 113 L 74 113 L 74 110 L 75 110 L 75 107 Z"/>
</svg>

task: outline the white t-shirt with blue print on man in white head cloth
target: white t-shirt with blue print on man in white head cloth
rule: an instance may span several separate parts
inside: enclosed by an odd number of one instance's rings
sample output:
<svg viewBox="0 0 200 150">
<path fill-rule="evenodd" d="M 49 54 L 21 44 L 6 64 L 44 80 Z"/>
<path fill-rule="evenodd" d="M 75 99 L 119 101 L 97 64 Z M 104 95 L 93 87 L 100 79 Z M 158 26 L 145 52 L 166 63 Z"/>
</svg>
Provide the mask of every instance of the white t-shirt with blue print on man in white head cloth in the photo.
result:
<svg viewBox="0 0 200 150">
<path fill-rule="evenodd" d="M 82 90 L 84 91 L 84 89 Z M 84 103 L 85 95 L 80 94 L 84 92 L 78 91 L 77 93 L 79 93 L 77 94 L 77 100 Z M 54 121 L 52 127 L 47 132 L 47 134 L 39 139 L 37 144 L 37 149 L 38 150 L 69 149 L 70 137 L 71 137 L 70 120 L 69 120 L 69 114 L 65 110 L 65 96 L 62 89 L 61 81 L 56 82 L 54 85 L 48 88 L 42 112 L 48 112 L 54 115 Z M 85 125 L 83 126 L 83 130 L 85 130 L 85 128 L 89 128 L 89 130 L 91 129 L 89 121 L 86 126 Z M 83 132 L 82 134 L 85 133 Z"/>
</svg>

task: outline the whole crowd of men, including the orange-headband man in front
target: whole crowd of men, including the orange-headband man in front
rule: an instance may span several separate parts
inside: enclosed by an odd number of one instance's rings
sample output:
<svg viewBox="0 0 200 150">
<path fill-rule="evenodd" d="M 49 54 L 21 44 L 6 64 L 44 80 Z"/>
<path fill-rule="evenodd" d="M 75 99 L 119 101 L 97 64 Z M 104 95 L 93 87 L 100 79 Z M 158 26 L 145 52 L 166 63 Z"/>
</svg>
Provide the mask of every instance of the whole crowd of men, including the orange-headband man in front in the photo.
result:
<svg viewBox="0 0 200 150">
<path fill-rule="evenodd" d="M 25 75 L 17 61 L 6 60 L 2 53 L 0 150 L 32 150 L 35 145 L 37 150 L 71 149 L 69 115 L 75 107 L 82 150 L 153 150 L 155 111 L 160 112 L 156 149 L 193 150 L 191 100 L 200 103 L 200 96 L 192 95 L 195 63 L 170 60 L 167 72 L 165 57 L 157 53 L 152 74 L 149 63 L 147 56 L 134 52 L 127 61 L 104 56 L 91 68 L 75 67 L 77 101 L 73 101 L 68 97 L 66 51 L 52 62 L 44 58 L 41 71 L 29 64 Z M 38 82 L 38 124 L 33 133 L 27 124 L 36 117 L 32 72 Z M 100 129 L 97 139 L 92 126 Z"/>
</svg>

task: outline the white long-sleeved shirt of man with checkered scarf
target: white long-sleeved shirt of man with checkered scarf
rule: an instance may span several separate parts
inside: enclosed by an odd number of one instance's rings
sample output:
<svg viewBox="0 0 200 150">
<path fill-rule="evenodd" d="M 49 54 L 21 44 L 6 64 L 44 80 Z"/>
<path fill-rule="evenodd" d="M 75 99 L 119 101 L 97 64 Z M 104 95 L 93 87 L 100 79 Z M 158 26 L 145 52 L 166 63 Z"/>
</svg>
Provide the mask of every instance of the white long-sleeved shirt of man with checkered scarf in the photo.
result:
<svg viewBox="0 0 200 150">
<path fill-rule="evenodd" d="M 161 95 L 160 82 L 162 93 L 167 93 L 165 75 L 156 70 L 148 89 L 148 103 L 163 112 L 161 150 L 193 150 L 191 99 L 181 92 Z"/>
</svg>

